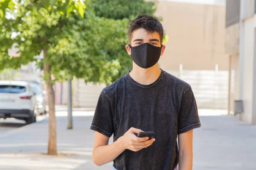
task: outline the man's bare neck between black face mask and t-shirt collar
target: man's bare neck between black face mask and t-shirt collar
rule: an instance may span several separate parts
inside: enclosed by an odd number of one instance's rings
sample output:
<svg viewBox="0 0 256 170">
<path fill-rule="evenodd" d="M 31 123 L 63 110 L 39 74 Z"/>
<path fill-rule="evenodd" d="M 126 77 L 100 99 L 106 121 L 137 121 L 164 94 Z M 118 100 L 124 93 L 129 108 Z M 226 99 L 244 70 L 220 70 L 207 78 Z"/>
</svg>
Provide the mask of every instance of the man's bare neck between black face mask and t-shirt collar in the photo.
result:
<svg viewBox="0 0 256 170">
<path fill-rule="evenodd" d="M 159 78 L 161 70 L 158 68 L 158 65 L 147 69 L 135 66 L 129 74 L 136 82 L 142 85 L 150 85 Z"/>
</svg>

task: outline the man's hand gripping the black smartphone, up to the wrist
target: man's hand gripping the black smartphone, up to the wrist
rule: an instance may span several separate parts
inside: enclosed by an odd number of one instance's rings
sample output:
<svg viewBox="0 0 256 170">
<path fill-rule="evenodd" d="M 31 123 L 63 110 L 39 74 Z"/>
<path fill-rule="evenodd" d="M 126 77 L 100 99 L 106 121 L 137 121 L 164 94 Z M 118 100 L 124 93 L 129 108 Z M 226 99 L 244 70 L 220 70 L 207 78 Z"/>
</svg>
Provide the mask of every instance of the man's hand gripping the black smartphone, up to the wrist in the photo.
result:
<svg viewBox="0 0 256 170">
<path fill-rule="evenodd" d="M 123 136 L 121 136 L 117 141 L 122 143 L 123 149 L 132 150 L 137 152 L 143 148 L 150 146 L 155 139 L 148 140 L 148 137 L 137 137 L 134 133 L 143 132 L 140 129 L 131 127 Z"/>
</svg>

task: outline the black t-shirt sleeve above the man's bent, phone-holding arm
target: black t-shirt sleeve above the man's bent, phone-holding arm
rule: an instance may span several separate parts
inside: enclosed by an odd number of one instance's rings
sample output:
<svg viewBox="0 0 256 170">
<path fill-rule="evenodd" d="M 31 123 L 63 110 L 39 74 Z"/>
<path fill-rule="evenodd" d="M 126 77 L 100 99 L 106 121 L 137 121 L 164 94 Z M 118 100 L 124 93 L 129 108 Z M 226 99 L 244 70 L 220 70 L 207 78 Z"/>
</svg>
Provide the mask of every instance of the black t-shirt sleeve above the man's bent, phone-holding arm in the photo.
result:
<svg viewBox="0 0 256 170">
<path fill-rule="evenodd" d="M 111 137 L 113 134 L 112 106 L 104 91 L 99 96 L 90 129 L 108 137 Z"/>
</svg>

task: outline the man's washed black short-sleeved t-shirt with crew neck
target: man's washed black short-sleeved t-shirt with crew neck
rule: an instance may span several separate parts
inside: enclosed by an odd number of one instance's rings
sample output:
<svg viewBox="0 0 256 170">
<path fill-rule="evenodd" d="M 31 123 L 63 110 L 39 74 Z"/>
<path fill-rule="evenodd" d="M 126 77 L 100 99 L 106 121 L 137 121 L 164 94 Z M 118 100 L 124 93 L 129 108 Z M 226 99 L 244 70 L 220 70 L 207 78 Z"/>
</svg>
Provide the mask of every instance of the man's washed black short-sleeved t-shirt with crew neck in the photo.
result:
<svg viewBox="0 0 256 170">
<path fill-rule="evenodd" d="M 114 160 L 117 170 L 173 170 L 178 164 L 177 135 L 200 127 L 190 85 L 161 70 L 151 85 L 125 74 L 102 90 L 91 130 L 116 141 L 131 127 L 154 131 L 156 141 L 138 152 L 125 150 Z"/>
</svg>

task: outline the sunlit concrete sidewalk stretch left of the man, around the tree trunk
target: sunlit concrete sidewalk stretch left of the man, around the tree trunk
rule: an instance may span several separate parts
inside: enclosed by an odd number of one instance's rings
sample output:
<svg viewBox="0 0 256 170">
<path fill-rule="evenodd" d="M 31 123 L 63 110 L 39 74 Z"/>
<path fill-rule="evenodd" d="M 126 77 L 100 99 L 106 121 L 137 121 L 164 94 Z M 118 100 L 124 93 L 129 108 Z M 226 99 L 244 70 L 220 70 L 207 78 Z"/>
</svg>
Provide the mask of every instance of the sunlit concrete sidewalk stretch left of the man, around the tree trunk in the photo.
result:
<svg viewBox="0 0 256 170">
<path fill-rule="evenodd" d="M 67 130 L 67 117 L 56 112 L 58 153 L 47 156 L 48 118 L 0 134 L 0 170 L 109 170 L 91 161 L 94 132 L 89 130 L 92 116 L 74 111 L 73 130 Z M 86 115 L 86 114 L 85 114 Z"/>
</svg>

